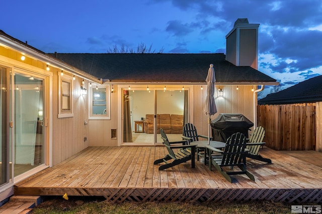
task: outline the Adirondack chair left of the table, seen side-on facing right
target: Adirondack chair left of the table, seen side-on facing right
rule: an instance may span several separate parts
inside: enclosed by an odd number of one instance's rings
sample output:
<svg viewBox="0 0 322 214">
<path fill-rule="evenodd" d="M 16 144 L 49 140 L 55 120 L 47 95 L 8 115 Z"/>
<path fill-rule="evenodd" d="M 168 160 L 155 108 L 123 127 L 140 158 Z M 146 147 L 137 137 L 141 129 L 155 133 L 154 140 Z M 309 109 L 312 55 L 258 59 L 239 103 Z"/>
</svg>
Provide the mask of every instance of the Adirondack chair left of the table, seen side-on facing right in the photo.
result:
<svg viewBox="0 0 322 214">
<path fill-rule="evenodd" d="M 196 145 L 187 145 L 186 140 L 169 142 L 168 137 L 162 128 L 160 128 L 160 134 L 161 138 L 164 141 L 163 144 L 167 147 L 169 154 L 167 154 L 164 158 L 154 161 L 154 165 L 162 162 L 166 163 L 164 165 L 160 165 L 159 170 L 173 167 L 180 163 L 187 162 L 188 160 L 191 160 L 191 167 L 195 168 Z M 181 145 L 171 145 L 178 143 L 181 143 Z M 175 152 L 173 149 L 178 149 L 178 151 Z M 168 162 L 169 160 L 172 160 L 172 162 Z"/>
</svg>

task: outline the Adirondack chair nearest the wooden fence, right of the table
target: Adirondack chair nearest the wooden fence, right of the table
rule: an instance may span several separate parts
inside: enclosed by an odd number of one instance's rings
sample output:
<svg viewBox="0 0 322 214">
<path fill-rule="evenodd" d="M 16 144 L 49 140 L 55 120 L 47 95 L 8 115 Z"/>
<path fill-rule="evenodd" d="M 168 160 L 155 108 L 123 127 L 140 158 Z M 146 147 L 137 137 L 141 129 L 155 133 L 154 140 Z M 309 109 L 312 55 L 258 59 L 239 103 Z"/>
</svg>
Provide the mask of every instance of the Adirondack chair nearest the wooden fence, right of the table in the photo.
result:
<svg viewBox="0 0 322 214">
<path fill-rule="evenodd" d="M 246 154 L 246 157 L 263 161 L 266 163 L 272 163 L 272 160 L 269 158 L 262 157 L 258 152 L 260 150 L 260 147 L 263 146 L 265 143 L 263 142 L 265 136 L 265 130 L 262 126 L 256 127 L 254 130 L 254 133 L 251 135 L 249 142 L 247 143 L 247 149 L 249 150 L 248 154 Z"/>
</svg>

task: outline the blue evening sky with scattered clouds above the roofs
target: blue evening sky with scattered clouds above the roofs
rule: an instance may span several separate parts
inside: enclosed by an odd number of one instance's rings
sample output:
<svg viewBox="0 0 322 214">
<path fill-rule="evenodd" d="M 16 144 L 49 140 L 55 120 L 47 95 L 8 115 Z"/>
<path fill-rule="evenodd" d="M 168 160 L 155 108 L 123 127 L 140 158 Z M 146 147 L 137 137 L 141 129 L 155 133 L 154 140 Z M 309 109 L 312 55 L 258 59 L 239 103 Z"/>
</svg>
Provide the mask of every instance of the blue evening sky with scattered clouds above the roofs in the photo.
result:
<svg viewBox="0 0 322 214">
<path fill-rule="evenodd" d="M 320 0 L 3 1 L 0 30 L 45 53 L 225 53 L 238 18 L 259 27 L 258 70 L 283 88 L 322 74 Z M 269 93 L 270 89 L 265 90 Z"/>
</svg>

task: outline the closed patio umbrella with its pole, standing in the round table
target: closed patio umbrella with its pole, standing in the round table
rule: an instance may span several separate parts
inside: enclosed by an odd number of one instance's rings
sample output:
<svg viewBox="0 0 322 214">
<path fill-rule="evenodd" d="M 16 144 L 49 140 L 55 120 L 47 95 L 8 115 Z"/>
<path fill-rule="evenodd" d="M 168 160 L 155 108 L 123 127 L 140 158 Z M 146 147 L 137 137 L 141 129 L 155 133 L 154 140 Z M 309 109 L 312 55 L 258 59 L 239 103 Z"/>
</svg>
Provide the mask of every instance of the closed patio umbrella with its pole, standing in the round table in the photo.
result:
<svg viewBox="0 0 322 214">
<path fill-rule="evenodd" d="M 206 82 L 207 82 L 207 97 L 206 97 L 205 106 L 203 108 L 203 112 L 205 112 L 205 114 L 209 116 L 208 118 L 208 145 L 209 145 L 210 144 L 210 122 L 211 122 L 210 116 L 217 113 L 217 108 L 216 108 L 216 103 L 214 98 L 216 78 L 215 78 L 215 70 L 213 68 L 213 64 L 210 64 Z"/>
</svg>

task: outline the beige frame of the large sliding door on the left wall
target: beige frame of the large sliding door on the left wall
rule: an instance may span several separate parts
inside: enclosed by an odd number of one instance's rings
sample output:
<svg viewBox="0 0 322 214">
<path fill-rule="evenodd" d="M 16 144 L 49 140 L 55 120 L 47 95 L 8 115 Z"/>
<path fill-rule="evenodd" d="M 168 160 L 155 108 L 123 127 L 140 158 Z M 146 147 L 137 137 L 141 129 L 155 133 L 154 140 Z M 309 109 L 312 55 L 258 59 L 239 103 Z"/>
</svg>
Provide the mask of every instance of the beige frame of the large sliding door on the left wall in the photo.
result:
<svg viewBox="0 0 322 214">
<path fill-rule="evenodd" d="M 15 60 L 6 58 L 6 61 L 0 60 L 0 65 L 2 67 L 5 67 L 8 69 L 8 75 L 13 75 L 15 72 L 22 73 L 22 74 L 28 74 L 33 75 L 35 77 L 43 79 L 43 117 L 44 117 L 44 164 L 41 164 L 21 175 L 14 176 L 14 164 L 10 166 L 11 176 L 8 182 L 4 183 L 2 186 L 0 186 L 0 192 L 10 195 L 12 187 L 15 183 L 20 182 L 21 180 L 45 169 L 50 166 L 52 166 L 52 73 L 40 68 L 36 68 L 30 65 L 26 65 L 21 62 L 17 62 Z M 8 103 L 8 114 L 9 114 L 9 133 L 10 133 L 10 143 L 9 148 L 10 156 L 11 158 L 8 160 L 11 161 L 15 158 L 15 150 L 14 150 L 14 142 L 15 142 L 15 84 L 14 84 L 14 78 L 11 78 L 9 80 L 8 85 L 8 96 L 9 103 Z M 12 124 L 12 127 L 11 127 Z"/>
</svg>

